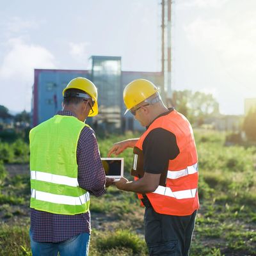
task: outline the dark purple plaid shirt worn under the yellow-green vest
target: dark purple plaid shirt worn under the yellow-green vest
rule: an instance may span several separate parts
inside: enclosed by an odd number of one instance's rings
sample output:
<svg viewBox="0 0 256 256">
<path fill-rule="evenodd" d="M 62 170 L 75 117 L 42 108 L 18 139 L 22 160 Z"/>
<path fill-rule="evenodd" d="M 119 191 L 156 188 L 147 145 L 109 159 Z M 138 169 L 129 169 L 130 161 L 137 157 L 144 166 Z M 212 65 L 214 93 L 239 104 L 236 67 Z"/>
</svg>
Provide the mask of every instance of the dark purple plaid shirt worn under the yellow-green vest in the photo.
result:
<svg viewBox="0 0 256 256">
<path fill-rule="evenodd" d="M 56 115 L 74 116 L 70 111 L 57 111 Z M 84 127 L 77 143 L 79 187 L 91 195 L 106 193 L 106 176 L 100 161 L 99 147 L 94 131 Z M 31 231 L 36 242 L 58 243 L 78 234 L 90 233 L 90 211 L 76 215 L 52 214 L 31 209 Z"/>
</svg>

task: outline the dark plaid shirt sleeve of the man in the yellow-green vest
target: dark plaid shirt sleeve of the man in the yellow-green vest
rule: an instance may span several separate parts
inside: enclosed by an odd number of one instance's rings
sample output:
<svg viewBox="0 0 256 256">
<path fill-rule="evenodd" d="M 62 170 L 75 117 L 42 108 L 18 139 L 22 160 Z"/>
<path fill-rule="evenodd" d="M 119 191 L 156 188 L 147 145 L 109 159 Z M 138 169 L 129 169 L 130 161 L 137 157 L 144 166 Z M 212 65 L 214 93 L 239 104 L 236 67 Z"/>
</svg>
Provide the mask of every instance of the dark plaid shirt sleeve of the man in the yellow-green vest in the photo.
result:
<svg viewBox="0 0 256 256">
<path fill-rule="evenodd" d="M 77 143 L 77 165 L 79 187 L 90 194 L 101 196 L 106 193 L 106 175 L 100 160 L 100 152 L 92 128 L 84 127 Z"/>
</svg>

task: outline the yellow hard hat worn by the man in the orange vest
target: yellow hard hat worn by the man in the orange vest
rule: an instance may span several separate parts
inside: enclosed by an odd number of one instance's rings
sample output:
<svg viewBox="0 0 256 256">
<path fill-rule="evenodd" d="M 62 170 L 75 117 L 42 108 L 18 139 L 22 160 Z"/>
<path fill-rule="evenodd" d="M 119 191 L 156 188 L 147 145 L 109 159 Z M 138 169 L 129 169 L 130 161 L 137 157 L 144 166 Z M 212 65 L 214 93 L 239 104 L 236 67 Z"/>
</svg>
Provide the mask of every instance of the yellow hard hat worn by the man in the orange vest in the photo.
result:
<svg viewBox="0 0 256 256">
<path fill-rule="evenodd" d="M 127 84 L 123 93 L 124 104 L 127 108 L 125 114 L 156 92 L 158 88 L 146 79 L 136 79 Z"/>
</svg>

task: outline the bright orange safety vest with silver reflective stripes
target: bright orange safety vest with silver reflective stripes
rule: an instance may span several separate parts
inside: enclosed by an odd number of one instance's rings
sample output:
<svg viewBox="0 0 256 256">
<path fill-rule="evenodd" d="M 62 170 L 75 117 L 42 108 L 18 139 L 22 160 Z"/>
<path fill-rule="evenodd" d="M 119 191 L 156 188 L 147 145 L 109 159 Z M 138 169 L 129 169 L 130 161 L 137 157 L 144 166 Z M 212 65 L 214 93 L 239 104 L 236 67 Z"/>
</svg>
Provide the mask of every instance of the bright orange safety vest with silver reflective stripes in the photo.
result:
<svg viewBox="0 0 256 256">
<path fill-rule="evenodd" d="M 192 127 L 185 116 L 173 110 L 150 124 L 134 147 L 132 175 L 135 180 L 143 177 L 143 141 L 148 133 L 156 128 L 163 128 L 175 134 L 180 153 L 169 161 L 168 170 L 161 174 L 156 191 L 146 194 L 148 200 L 158 213 L 191 215 L 199 208 L 198 159 Z M 138 198 L 143 198 L 143 195 L 138 194 Z"/>
</svg>

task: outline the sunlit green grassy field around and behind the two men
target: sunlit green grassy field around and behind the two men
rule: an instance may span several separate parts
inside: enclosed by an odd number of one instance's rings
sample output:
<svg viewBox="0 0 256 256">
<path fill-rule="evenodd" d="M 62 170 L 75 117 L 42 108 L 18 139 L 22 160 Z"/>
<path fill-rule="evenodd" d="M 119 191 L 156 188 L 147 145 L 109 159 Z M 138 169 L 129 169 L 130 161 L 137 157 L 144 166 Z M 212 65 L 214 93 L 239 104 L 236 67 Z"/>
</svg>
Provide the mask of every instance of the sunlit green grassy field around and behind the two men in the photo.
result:
<svg viewBox="0 0 256 256">
<path fill-rule="evenodd" d="M 99 138 L 101 156 L 115 141 L 131 136 Z M 256 255 L 256 147 L 225 147 L 225 134 L 216 132 L 196 131 L 195 138 L 200 210 L 190 255 Z M 0 255 L 31 255 L 28 145 L 0 143 L 0 153 Z M 131 179 L 132 150 L 120 156 Z M 92 197 L 91 211 L 90 255 L 147 255 L 143 208 L 133 193 L 108 188 L 101 198 Z"/>
</svg>

